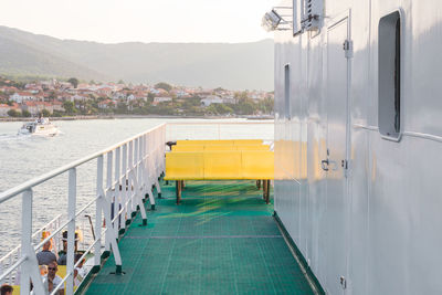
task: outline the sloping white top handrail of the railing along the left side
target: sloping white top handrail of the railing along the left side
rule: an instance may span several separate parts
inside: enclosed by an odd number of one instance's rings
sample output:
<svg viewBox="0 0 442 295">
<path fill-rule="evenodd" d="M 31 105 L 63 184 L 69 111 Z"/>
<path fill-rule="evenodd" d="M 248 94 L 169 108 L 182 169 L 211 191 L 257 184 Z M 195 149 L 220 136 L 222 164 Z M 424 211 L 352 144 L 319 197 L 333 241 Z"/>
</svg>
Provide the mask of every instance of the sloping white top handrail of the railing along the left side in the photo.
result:
<svg viewBox="0 0 442 295">
<path fill-rule="evenodd" d="M 148 133 L 150 133 L 150 131 L 152 131 L 152 130 L 155 130 L 157 128 L 160 128 L 164 125 L 165 124 L 161 124 L 159 126 L 150 128 L 149 130 L 147 130 L 145 133 L 135 135 L 135 136 L 133 136 L 133 137 L 130 137 L 130 138 L 128 138 L 128 139 L 126 139 L 124 141 L 120 141 L 120 143 L 118 143 L 118 144 L 116 144 L 114 146 L 110 146 L 110 147 L 108 147 L 106 149 L 103 149 L 103 150 L 101 150 L 98 152 L 92 154 L 91 156 L 86 156 L 83 159 L 73 161 L 73 162 L 67 164 L 67 165 L 65 165 L 63 167 L 60 167 L 60 168 L 57 168 L 55 170 L 52 170 L 52 171 L 50 171 L 48 173 L 44 173 L 44 175 L 42 175 L 40 177 L 35 177 L 35 178 L 33 178 L 31 180 L 28 180 L 28 181 L 17 186 L 17 187 L 12 188 L 12 189 L 6 190 L 6 191 L 0 193 L 0 203 L 11 199 L 12 197 L 14 197 L 14 196 L 17 196 L 17 194 L 19 194 L 19 193 L 21 193 L 21 192 L 23 192 L 25 190 L 29 190 L 30 188 L 33 188 L 33 187 L 35 187 L 35 186 L 38 186 L 38 185 L 51 179 L 51 178 L 54 178 L 54 177 L 56 177 L 56 176 L 59 176 L 61 173 L 64 173 L 64 172 L 69 171 L 72 168 L 75 168 L 75 167 L 77 167 L 80 165 L 83 165 L 83 164 L 85 164 L 87 161 L 91 161 L 91 160 L 93 160 L 95 158 L 98 158 L 99 156 L 104 156 L 105 154 L 107 154 L 107 152 L 109 152 L 109 151 L 112 151 L 112 150 L 114 150 L 114 149 L 116 149 L 116 148 L 118 148 L 118 147 L 120 147 L 123 145 L 126 145 L 127 143 L 129 143 L 129 141 L 138 138 L 138 137 L 141 137 L 141 136 L 144 136 L 144 135 L 146 135 L 146 134 L 148 134 Z"/>
</svg>

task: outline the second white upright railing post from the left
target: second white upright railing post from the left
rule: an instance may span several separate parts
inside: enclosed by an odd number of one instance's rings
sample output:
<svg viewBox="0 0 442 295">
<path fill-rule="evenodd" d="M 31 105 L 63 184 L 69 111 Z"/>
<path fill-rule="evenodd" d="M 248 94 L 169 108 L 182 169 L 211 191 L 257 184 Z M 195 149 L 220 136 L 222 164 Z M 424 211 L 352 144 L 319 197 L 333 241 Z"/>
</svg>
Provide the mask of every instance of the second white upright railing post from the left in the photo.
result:
<svg viewBox="0 0 442 295">
<path fill-rule="evenodd" d="M 69 193 L 67 193 L 67 257 L 66 270 L 72 272 L 66 280 L 66 294 L 74 294 L 74 252 L 75 252 L 75 207 L 76 207 L 76 168 L 69 170 Z"/>
</svg>

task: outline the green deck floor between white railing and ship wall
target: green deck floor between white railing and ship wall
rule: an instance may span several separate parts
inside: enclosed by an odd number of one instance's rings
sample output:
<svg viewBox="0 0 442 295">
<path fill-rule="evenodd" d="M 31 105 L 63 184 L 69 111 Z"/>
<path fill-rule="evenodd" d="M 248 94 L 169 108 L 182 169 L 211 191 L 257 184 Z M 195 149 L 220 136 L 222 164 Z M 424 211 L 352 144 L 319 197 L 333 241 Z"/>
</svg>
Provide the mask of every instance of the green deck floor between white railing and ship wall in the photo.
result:
<svg viewBox="0 0 442 295">
<path fill-rule="evenodd" d="M 313 294 L 254 181 L 175 182 L 119 242 L 86 294 Z"/>
</svg>

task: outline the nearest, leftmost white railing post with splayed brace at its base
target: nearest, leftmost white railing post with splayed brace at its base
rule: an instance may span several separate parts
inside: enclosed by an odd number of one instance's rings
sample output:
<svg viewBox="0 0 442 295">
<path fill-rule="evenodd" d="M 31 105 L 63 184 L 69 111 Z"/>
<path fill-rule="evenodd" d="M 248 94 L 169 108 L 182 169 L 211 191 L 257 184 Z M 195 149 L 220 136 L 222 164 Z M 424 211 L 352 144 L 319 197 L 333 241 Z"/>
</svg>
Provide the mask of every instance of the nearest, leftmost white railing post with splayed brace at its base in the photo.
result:
<svg viewBox="0 0 442 295">
<path fill-rule="evenodd" d="M 21 255 L 25 261 L 21 264 L 20 293 L 29 294 L 31 281 L 35 294 L 44 294 L 43 282 L 40 276 L 39 263 L 32 246 L 32 190 L 29 189 L 22 196 L 21 210 Z"/>
</svg>

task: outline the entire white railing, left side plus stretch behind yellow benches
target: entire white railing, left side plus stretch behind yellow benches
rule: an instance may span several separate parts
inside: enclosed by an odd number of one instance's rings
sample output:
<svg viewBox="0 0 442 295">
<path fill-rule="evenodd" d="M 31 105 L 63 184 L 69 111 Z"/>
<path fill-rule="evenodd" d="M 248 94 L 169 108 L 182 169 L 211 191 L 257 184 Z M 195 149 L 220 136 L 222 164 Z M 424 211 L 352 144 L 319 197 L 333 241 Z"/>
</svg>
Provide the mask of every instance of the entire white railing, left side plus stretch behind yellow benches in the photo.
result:
<svg viewBox="0 0 442 295">
<path fill-rule="evenodd" d="M 122 257 L 117 245 L 117 238 L 126 229 L 126 219 L 131 219 L 133 213 L 139 207 L 143 222 L 147 223 L 143 198 L 147 197 L 150 204 L 155 206 L 151 188 L 156 186 L 160 194 L 158 178 L 165 170 L 165 143 L 177 139 L 235 139 L 256 138 L 273 141 L 274 123 L 269 122 L 186 122 L 162 124 L 146 133 L 134 136 L 117 145 L 76 160 L 51 172 L 31 179 L 18 187 L 0 193 L 0 204 L 3 206 L 10 199 L 22 196 L 21 212 L 21 244 L 13 251 L 15 254 L 3 256 L 6 270 L 0 268 L 0 283 L 11 282 L 11 277 L 20 277 L 21 294 L 29 294 L 32 281 L 35 294 L 45 294 L 40 276 L 35 251 L 53 238 L 60 238 L 60 233 L 67 228 L 67 263 L 66 275 L 62 283 L 54 286 L 51 294 L 66 283 L 66 294 L 74 291 L 74 268 L 88 254 L 94 254 L 94 268 L 99 270 L 103 251 L 113 251 L 116 272 L 122 272 Z M 96 194 L 85 206 L 77 210 L 77 169 L 96 160 Z M 32 201 L 35 187 L 60 176 L 67 175 L 67 212 L 66 219 L 54 223 L 50 235 L 42 241 L 35 239 L 41 230 L 32 233 Z M 105 183 L 104 183 L 105 182 Z M 77 262 L 74 262 L 75 230 L 80 217 L 84 217 L 86 210 L 93 210 L 95 206 L 94 236 L 87 244 L 87 249 Z M 93 215 L 93 214 L 91 214 Z M 104 215 L 104 218 L 103 218 Z M 102 230 L 103 221 L 105 229 Z M 104 235 L 104 239 L 103 239 Z M 56 241 L 59 239 L 55 239 Z M 15 255 L 15 256 L 13 256 Z M 7 262 L 7 263 L 6 263 Z M 20 275 L 13 275 L 13 272 Z"/>
</svg>

